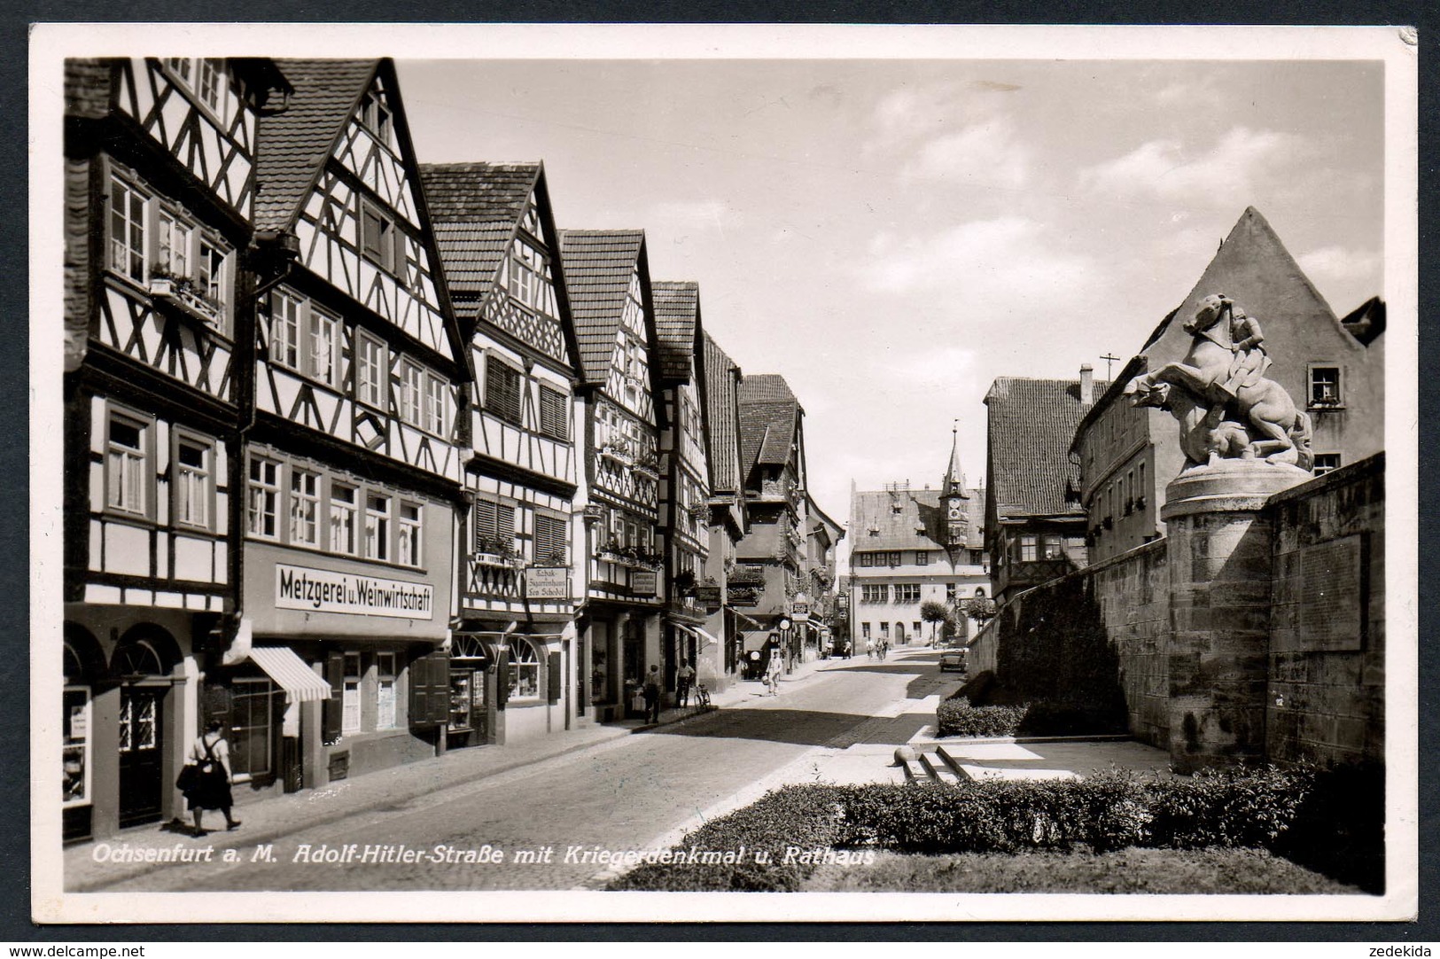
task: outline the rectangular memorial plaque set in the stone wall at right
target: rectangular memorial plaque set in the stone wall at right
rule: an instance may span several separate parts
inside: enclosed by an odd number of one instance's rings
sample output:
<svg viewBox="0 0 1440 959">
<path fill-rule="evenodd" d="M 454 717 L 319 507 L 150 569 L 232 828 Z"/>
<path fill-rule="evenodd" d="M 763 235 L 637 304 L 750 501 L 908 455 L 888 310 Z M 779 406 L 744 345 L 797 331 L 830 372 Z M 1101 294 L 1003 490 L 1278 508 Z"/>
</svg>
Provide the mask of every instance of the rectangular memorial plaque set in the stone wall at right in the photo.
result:
<svg viewBox="0 0 1440 959">
<path fill-rule="evenodd" d="M 1300 649 L 1361 649 L 1365 636 L 1361 537 L 1346 536 L 1296 550 L 1292 595 Z"/>
</svg>

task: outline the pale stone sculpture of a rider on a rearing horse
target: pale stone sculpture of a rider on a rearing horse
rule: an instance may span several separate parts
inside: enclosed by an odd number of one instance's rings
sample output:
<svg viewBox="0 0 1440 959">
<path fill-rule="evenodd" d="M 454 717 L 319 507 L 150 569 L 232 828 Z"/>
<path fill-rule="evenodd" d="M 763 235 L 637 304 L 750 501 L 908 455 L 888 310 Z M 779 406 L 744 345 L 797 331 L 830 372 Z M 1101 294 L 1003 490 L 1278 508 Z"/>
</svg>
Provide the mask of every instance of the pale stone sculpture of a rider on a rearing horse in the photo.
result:
<svg viewBox="0 0 1440 959">
<path fill-rule="evenodd" d="M 1130 402 L 1168 409 L 1179 420 L 1188 465 L 1241 458 L 1310 469 L 1310 418 L 1266 379 L 1270 357 L 1260 323 L 1230 297 L 1211 294 L 1182 328 L 1191 334 L 1185 360 L 1130 380 Z"/>
</svg>

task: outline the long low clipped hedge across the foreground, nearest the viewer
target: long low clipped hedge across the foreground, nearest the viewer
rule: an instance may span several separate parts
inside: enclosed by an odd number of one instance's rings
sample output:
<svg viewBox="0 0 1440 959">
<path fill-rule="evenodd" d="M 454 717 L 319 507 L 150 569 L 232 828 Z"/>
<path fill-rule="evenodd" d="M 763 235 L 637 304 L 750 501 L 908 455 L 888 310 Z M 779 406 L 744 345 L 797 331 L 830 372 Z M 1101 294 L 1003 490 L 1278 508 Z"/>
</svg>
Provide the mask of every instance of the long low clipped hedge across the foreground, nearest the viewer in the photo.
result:
<svg viewBox="0 0 1440 959">
<path fill-rule="evenodd" d="M 1382 779 L 1382 770 L 1381 770 Z M 645 864 L 615 880 L 613 890 L 795 891 L 819 858 L 788 850 L 890 848 L 899 852 L 1021 852 L 1028 850 L 1266 848 L 1305 864 L 1297 851 L 1346 844 L 1346 863 L 1315 863 L 1342 881 L 1375 891 L 1384 874 L 1384 816 L 1365 809 L 1355 824 L 1325 801 L 1346 783 L 1346 798 L 1369 792 L 1374 773 L 1261 769 L 1140 778 L 1125 772 L 1086 779 L 982 779 L 958 785 L 910 783 L 786 786 L 750 806 L 706 824 L 675 850 L 746 855 L 733 864 Z M 1374 803 L 1371 803 L 1374 805 Z M 756 861 L 765 852 L 768 861 Z M 855 854 L 858 855 L 858 852 Z M 1344 871 L 1349 868 L 1349 874 Z"/>
</svg>

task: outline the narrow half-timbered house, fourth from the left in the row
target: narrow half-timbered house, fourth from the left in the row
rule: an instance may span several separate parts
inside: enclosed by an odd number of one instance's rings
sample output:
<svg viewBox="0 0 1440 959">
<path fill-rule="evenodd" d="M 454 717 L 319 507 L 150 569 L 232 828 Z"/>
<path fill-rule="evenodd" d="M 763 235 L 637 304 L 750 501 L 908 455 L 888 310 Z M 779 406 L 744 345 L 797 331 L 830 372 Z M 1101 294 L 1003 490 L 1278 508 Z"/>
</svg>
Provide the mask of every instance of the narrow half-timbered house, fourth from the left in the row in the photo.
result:
<svg viewBox="0 0 1440 959">
<path fill-rule="evenodd" d="M 606 721 L 635 708 L 641 678 L 661 664 L 655 311 L 644 232 L 562 230 L 560 249 L 585 369 L 582 701 Z"/>
</svg>

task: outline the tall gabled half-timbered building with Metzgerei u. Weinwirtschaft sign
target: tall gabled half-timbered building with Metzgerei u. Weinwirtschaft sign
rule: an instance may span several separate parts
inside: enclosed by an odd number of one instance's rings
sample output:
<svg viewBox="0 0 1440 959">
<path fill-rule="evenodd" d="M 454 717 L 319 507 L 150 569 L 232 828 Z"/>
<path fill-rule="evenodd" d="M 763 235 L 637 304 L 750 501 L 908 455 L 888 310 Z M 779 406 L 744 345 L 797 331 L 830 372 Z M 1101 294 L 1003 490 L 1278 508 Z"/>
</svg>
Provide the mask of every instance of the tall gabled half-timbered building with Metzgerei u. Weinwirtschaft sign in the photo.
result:
<svg viewBox="0 0 1440 959">
<path fill-rule="evenodd" d="M 298 259 L 242 347 L 242 641 L 288 664 L 287 708 L 243 720 L 298 788 L 444 746 L 469 373 L 395 66 L 281 68 L 255 219 Z M 206 707 L 240 714 L 242 683 L 216 675 Z"/>
</svg>

